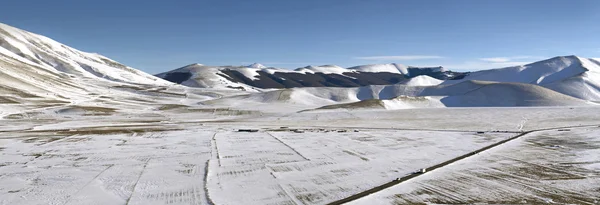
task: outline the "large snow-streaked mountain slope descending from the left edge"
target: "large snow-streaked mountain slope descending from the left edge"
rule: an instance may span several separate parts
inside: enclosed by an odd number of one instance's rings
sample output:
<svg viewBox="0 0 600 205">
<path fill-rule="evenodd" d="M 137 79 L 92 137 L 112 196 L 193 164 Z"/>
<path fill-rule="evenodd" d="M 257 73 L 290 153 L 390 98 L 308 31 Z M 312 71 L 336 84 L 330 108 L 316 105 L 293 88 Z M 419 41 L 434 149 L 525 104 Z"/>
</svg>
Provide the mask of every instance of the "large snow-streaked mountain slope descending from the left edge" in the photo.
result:
<svg viewBox="0 0 600 205">
<path fill-rule="evenodd" d="M 0 24 L 0 117 L 83 104 L 140 109 L 144 103 L 183 96 L 185 89 L 102 55 Z"/>
</svg>

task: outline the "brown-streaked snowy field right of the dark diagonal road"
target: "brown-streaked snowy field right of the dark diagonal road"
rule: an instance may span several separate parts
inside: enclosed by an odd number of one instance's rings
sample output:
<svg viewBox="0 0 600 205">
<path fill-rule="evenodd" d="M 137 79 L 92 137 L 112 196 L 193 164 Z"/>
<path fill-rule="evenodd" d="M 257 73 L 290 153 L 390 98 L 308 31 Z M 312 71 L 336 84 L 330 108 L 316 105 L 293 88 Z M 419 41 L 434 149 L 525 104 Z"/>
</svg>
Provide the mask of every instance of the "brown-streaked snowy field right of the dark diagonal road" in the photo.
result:
<svg viewBox="0 0 600 205">
<path fill-rule="evenodd" d="M 532 133 L 349 204 L 598 204 L 600 128 Z"/>
</svg>

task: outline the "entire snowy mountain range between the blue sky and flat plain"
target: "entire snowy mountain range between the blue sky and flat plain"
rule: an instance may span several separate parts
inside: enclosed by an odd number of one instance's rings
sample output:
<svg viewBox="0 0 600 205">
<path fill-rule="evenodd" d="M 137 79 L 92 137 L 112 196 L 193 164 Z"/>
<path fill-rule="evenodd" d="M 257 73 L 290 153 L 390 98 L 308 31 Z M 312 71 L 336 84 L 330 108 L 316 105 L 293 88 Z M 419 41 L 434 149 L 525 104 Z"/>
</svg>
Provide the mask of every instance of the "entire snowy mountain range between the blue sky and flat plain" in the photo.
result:
<svg viewBox="0 0 600 205">
<path fill-rule="evenodd" d="M 254 63 L 191 64 L 152 76 L 0 24 L 0 116 L 86 103 L 133 109 L 161 103 L 398 109 L 594 104 L 590 101 L 600 101 L 600 63 L 576 56 L 473 73 L 400 64 L 287 70 Z"/>
</svg>

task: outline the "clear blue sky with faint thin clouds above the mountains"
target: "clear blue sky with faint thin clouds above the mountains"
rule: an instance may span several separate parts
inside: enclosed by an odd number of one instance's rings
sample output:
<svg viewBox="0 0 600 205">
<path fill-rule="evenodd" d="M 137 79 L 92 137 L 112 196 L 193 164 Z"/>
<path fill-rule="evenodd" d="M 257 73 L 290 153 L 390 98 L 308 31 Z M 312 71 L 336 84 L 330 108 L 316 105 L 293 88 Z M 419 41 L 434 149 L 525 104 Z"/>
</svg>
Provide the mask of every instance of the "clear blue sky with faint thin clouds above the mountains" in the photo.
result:
<svg viewBox="0 0 600 205">
<path fill-rule="evenodd" d="M 600 57 L 598 0 L 30 0 L 0 22 L 159 73 L 191 63 L 479 70 Z"/>
</svg>

